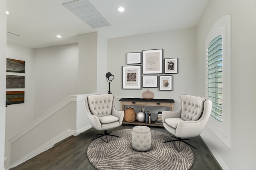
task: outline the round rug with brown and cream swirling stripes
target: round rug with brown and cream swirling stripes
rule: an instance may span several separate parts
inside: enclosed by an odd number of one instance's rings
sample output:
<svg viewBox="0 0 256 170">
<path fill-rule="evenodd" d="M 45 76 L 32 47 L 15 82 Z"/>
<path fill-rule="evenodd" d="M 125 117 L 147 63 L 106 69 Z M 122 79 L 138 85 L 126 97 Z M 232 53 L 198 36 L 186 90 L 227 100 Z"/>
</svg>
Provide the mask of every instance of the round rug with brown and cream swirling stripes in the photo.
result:
<svg viewBox="0 0 256 170">
<path fill-rule="evenodd" d="M 171 135 L 151 130 L 151 149 L 138 152 L 132 148 L 132 129 L 113 131 L 113 135 L 92 141 L 87 150 L 91 164 L 98 170 L 189 170 L 194 161 L 190 147 L 168 142 Z"/>
</svg>

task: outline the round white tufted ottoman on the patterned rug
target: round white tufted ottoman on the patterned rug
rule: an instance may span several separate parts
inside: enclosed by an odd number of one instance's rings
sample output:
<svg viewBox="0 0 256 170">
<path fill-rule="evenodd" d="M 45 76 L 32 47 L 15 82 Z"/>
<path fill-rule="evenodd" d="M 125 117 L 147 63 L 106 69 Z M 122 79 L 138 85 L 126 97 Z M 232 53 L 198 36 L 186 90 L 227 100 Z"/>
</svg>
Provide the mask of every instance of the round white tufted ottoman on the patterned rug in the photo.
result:
<svg viewBox="0 0 256 170">
<path fill-rule="evenodd" d="M 132 129 L 132 147 L 134 150 L 145 152 L 151 148 L 151 133 L 147 126 L 135 126 Z"/>
</svg>

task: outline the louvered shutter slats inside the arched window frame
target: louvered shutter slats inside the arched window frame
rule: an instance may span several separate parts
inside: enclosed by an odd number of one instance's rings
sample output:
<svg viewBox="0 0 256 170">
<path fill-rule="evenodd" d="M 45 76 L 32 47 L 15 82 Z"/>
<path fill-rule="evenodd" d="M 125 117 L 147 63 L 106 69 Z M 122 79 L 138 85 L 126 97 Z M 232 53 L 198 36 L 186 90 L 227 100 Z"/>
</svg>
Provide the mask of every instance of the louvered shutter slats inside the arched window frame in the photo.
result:
<svg viewBox="0 0 256 170">
<path fill-rule="evenodd" d="M 208 98 L 212 100 L 211 116 L 222 123 L 222 35 L 208 47 Z"/>
</svg>

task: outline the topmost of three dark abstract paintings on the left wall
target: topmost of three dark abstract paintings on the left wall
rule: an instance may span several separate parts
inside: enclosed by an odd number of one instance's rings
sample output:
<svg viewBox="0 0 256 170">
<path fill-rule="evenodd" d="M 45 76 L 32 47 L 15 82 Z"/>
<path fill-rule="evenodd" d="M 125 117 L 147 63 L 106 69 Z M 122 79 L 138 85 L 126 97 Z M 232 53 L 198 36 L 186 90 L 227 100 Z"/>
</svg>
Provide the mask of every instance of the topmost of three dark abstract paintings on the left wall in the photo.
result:
<svg viewBox="0 0 256 170">
<path fill-rule="evenodd" d="M 25 73 L 25 61 L 6 59 L 6 71 Z"/>
</svg>

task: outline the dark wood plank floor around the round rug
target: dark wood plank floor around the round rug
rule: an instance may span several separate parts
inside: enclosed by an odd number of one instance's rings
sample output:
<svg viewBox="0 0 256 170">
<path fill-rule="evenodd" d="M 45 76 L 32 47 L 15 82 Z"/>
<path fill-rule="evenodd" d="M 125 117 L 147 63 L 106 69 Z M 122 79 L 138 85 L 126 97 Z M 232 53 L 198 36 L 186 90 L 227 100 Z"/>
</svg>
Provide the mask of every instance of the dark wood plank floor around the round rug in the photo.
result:
<svg viewBox="0 0 256 170">
<path fill-rule="evenodd" d="M 110 131 L 132 129 L 134 125 L 122 125 Z M 151 130 L 168 133 L 163 127 L 150 127 Z M 96 170 L 87 157 L 87 149 L 96 133 L 102 133 L 91 128 L 88 131 L 57 143 L 49 150 L 27 160 L 11 170 Z M 222 170 L 200 137 L 188 141 L 194 154 L 194 163 L 190 170 Z"/>
</svg>

